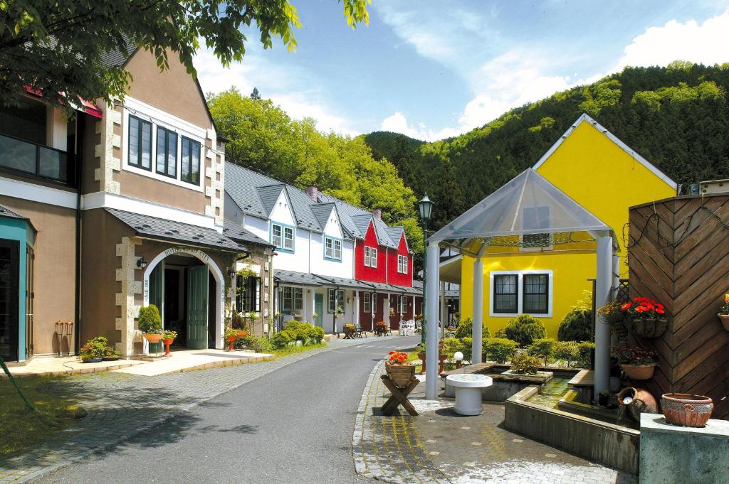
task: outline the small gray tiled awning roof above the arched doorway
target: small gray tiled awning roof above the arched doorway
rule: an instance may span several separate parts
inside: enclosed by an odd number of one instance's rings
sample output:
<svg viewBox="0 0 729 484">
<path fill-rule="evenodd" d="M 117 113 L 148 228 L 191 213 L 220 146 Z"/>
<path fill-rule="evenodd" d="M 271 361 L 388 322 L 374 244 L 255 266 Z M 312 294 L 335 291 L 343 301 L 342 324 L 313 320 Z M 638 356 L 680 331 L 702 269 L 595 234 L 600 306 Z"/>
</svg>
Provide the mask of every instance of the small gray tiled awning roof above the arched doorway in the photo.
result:
<svg viewBox="0 0 729 484">
<path fill-rule="evenodd" d="M 128 225 L 136 231 L 136 234 L 141 236 L 210 247 L 212 249 L 224 250 L 225 252 L 241 253 L 249 251 L 243 245 L 225 237 L 225 235 L 220 234 L 215 229 L 150 217 L 141 213 L 125 212 L 115 208 L 106 208 L 104 210 L 114 215 L 114 217 Z"/>
</svg>

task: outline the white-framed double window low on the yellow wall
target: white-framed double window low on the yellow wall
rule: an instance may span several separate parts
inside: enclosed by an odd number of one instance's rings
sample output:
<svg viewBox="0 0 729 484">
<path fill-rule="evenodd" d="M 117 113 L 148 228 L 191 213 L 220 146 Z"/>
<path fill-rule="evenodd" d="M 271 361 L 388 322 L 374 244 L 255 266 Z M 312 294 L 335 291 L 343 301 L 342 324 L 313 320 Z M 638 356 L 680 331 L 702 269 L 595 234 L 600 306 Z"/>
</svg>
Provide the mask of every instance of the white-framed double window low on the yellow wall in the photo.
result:
<svg viewBox="0 0 729 484">
<path fill-rule="evenodd" d="M 552 317 L 554 275 L 551 269 L 491 271 L 488 298 L 491 317 L 529 314 Z"/>
</svg>

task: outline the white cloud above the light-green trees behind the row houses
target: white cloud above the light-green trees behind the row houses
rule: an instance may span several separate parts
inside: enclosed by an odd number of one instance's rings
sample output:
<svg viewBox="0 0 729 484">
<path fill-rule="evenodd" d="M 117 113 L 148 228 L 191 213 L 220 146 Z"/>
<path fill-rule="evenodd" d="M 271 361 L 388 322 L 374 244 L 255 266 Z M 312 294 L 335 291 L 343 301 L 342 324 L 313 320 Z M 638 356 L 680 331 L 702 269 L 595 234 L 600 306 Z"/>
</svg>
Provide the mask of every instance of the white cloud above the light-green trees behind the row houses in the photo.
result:
<svg viewBox="0 0 729 484">
<path fill-rule="evenodd" d="M 300 85 L 316 86 L 307 71 L 295 67 L 286 68 L 271 63 L 265 53 L 248 49 L 241 63 L 223 67 L 210 50 L 203 50 L 195 57 L 200 85 L 205 92 L 221 92 L 238 88 L 244 95 L 257 87 L 264 98 L 270 98 L 293 119 L 316 119 L 319 130 L 356 135 L 350 122 L 335 114 L 324 95 L 317 90 L 300 89 Z M 290 79 L 296 79 L 292 84 Z"/>
</svg>

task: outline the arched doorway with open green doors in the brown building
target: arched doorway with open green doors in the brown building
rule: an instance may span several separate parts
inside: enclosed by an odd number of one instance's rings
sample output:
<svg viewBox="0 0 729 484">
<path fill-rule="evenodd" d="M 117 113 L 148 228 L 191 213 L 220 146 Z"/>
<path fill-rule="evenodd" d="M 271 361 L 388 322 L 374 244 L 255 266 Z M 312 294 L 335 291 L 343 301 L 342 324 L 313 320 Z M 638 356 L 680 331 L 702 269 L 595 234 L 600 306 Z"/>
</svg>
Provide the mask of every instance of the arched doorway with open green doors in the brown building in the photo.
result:
<svg viewBox="0 0 729 484">
<path fill-rule="evenodd" d="M 222 348 L 225 279 L 202 250 L 173 247 L 144 269 L 144 305 L 160 307 L 165 329 L 176 330 L 176 346 Z"/>
</svg>

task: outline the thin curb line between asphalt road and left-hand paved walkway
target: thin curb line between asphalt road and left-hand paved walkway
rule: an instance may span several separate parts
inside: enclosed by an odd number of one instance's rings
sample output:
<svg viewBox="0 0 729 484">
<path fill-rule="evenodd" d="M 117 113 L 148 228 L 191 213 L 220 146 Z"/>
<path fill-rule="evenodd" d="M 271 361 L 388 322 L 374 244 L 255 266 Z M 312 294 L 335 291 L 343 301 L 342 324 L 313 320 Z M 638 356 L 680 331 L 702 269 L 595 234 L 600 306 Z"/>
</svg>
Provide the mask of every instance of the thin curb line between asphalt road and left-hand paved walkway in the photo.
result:
<svg viewBox="0 0 729 484">
<path fill-rule="evenodd" d="M 254 376 L 253 378 L 250 378 L 249 380 L 242 381 L 241 384 L 238 384 L 238 385 L 235 385 L 235 386 L 230 386 L 229 388 L 225 389 L 225 391 L 223 391 L 223 392 L 219 392 L 217 394 L 212 394 L 212 395 L 209 395 L 207 397 L 200 398 L 200 400 L 196 400 L 195 402 L 192 402 L 192 403 L 190 403 L 188 405 L 181 406 L 177 410 L 172 409 L 168 413 L 165 413 L 164 416 L 160 416 L 158 418 L 152 418 L 151 420 L 146 421 L 144 424 L 141 424 L 139 427 L 134 427 L 133 429 L 130 429 L 130 431 L 127 432 L 125 435 L 121 435 L 121 436 L 119 436 L 119 437 L 117 437 L 117 438 L 115 438 L 113 440 L 109 440 L 108 442 L 103 443 L 101 445 L 98 445 L 97 447 L 92 448 L 92 449 L 89 449 L 87 451 L 80 451 L 77 455 L 73 456 L 71 459 L 68 459 L 66 461 L 57 462 L 55 464 L 52 464 L 51 466 L 47 466 L 47 467 L 44 467 L 42 469 L 36 470 L 35 472 L 29 472 L 28 474 L 23 475 L 23 477 L 20 477 L 20 478 L 15 479 L 15 480 L 7 480 L 6 477 L 9 477 L 8 475 L 0 476 L 0 483 L 13 483 L 13 484 L 15 484 L 15 483 L 27 483 L 27 482 L 29 482 L 31 480 L 34 480 L 34 479 L 37 479 L 37 478 L 42 477 L 44 475 L 47 475 L 50 472 L 54 472 L 54 471 L 56 471 L 58 469 L 61 469 L 63 467 L 67 467 L 67 466 L 69 466 L 71 464 L 74 464 L 74 463 L 76 463 L 76 462 L 78 462 L 78 461 L 80 461 L 82 459 L 85 459 L 88 456 L 92 456 L 94 453 L 98 453 L 98 452 L 101 452 L 101 451 L 106 451 L 107 449 L 112 448 L 115 445 L 119 445 L 120 443 L 123 443 L 126 440 L 129 440 L 129 439 L 131 439 L 133 437 L 136 437 L 136 435 L 141 434 L 141 432 L 144 432 L 146 430 L 151 429 L 152 427 L 155 427 L 155 426 L 157 426 L 159 424 L 162 424 L 163 422 L 168 421 L 171 418 L 175 418 L 176 416 L 179 416 L 182 413 L 188 412 L 192 408 L 195 408 L 196 406 L 198 406 L 198 405 L 200 405 L 200 404 L 202 404 L 204 402 L 207 402 L 208 400 L 212 400 L 214 398 L 219 397 L 222 394 L 226 394 L 227 392 L 231 392 L 231 391 L 233 391 L 234 389 L 237 389 L 240 386 L 243 386 L 243 385 L 245 385 L 245 384 L 247 384 L 247 383 L 249 383 L 251 381 L 257 380 L 258 378 L 261 378 L 262 376 L 266 376 L 269 373 L 273 373 L 276 370 L 280 370 L 281 368 L 285 368 L 288 365 L 292 365 L 295 362 L 299 362 L 301 360 L 305 360 L 306 358 L 313 357 L 316 354 L 321 354 L 321 353 L 324 353 L 324 352 L 330 352 L 330 351 L 334 351 L 336 349 L 340 349 L 340 348 L 344 348 L 344 347 L 349 347 L 349 346 L 359 346 L 360 344 L 366 344 L 366 343 L 367 343 L 367 341 L 362 341 L 362 342 L 357 341 L 356 344 L 348 344 L 348 345 L 338 346 L 338 347 L 327 346 L 325 348 L 319 349 L 319 351 L 312 351 L 312 352 L 304 352 L 304 353 L 296 353 L 296 354 L 292 354 L 292 355 L 287 355 L 287 357 L 288 356 L 292 356 L 292 357 L 293 356 L 299 356 L 299 357 L 298 358 L 295 358 L 295 359 L 292 358 L 291 361 L 285 362 L 283 365 L 278 366 L 276 368 L 273 368 L 272 370 L 270 370 L 268 372 L 261 373 L 260 375 Z M 187 368 L 186 370 L 189 371 L 191 369 L 190 368 Z M 177 372 L 177 373 L 179 373 L 179 372 Z M 173 373 L 169 373 L 169 374 L 173 374 Z M 18 471 L 18 472 L 23 473 L 22 470 L 21 471 Z"/>
</svg>

